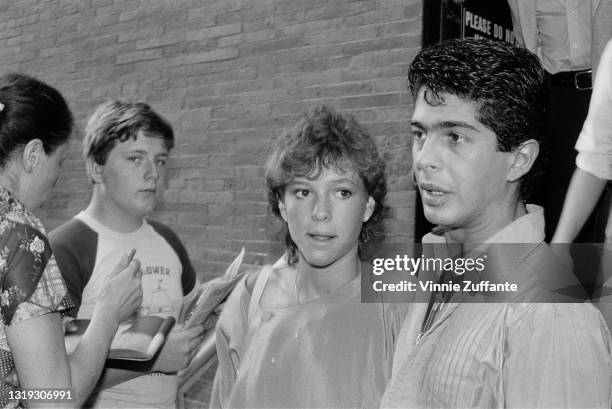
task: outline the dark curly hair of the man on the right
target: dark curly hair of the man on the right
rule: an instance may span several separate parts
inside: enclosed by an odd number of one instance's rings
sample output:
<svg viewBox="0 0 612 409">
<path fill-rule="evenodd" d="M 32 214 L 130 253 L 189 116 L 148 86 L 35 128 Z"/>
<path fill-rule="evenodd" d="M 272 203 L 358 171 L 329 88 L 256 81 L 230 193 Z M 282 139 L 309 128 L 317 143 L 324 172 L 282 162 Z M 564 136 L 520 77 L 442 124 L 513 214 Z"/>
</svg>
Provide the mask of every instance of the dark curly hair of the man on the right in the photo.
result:
<svg viewBox="0 0 612 409">
<path fill-rule="evenodd" d="M 445 93 L 480 104 L 477 119 L 495 133 L 501 152 L 536 140 L 540 154 L 519 192 L 520 199 L 529 197 L 542 173 L 550 124 L 549 84 L 534 54 L 501 41 L 447 40 L 419 52 L 408 81 L 415 97 L 425 87 L 432 105 Z"/>
</svg>

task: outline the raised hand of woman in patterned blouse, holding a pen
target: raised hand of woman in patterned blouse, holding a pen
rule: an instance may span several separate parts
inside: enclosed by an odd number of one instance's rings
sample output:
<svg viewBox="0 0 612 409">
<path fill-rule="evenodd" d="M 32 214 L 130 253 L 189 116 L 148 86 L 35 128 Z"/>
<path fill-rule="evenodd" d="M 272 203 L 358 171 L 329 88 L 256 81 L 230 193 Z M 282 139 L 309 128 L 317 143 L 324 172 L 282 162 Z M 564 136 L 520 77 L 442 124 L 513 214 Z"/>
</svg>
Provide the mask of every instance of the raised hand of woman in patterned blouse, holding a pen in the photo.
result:
<svg viewBox="0 0 612 409">
<path fill-rule="evenodd" d="M 129 318 L 142 303 L 140 261 L 128 263 L 128 256 L 123 255 L 115 270 L 106 277 L 96 308 L 102 308 L 105 315 L 110 315 L 121 322 Z"/>
</svg>

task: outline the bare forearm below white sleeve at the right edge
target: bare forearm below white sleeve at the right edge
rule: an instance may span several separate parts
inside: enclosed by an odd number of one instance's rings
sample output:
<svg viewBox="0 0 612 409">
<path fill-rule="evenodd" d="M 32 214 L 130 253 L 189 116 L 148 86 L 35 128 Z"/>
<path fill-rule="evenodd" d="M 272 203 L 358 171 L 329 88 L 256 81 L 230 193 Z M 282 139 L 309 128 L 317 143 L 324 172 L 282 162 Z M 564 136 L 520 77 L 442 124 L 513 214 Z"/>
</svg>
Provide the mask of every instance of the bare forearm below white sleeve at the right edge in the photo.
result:
<svg viewBox="0 0 612 409">
<path fill-rule="evenodd" d="M 576 168 L 552 243 L 571 243 L 595 208 L 607 181 Z"/>
</svg>

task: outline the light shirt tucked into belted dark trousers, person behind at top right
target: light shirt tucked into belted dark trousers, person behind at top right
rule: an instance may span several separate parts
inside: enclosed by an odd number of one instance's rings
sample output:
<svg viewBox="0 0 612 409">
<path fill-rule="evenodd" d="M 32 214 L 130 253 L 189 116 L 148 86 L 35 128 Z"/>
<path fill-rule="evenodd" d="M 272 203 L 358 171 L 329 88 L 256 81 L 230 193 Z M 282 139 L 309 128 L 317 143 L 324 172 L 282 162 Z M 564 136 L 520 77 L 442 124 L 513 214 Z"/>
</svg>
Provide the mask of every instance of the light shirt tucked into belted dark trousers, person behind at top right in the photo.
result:
<svg viewBox="0 0 612 409">
<path fill-rule="evenodd" d="M 519 44 L 551 74 L 591 68 L 591 21 L 600 0 L 508 0 Z"/>
</svg>

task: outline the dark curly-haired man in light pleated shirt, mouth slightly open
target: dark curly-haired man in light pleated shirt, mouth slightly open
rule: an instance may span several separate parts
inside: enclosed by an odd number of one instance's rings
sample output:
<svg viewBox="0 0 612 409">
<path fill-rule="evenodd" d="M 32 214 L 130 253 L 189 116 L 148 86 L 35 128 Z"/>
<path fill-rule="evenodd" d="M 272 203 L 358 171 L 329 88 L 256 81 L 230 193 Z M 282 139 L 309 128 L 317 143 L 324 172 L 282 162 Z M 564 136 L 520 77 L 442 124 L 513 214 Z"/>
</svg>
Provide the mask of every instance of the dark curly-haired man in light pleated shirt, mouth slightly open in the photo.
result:
<svg viewBox="0 0 612 409">
<path fill-rule="evenodd" d="M 486 248 L 489 274 L 518 292 L 459 291 L 407 319 L 420 333 L 402 329 L 382 406 L 610 408 L 610 334 L 599 311 L 529 302 L 546 301 L 562 277 L 543 242 L 543 210 L 524 202 L 548 111 L 536 56 L 451 40 L 422 50 L 409 81 L 415 178 L 425 216 L 439 225 L 423 242 Z"/>
</svg>

